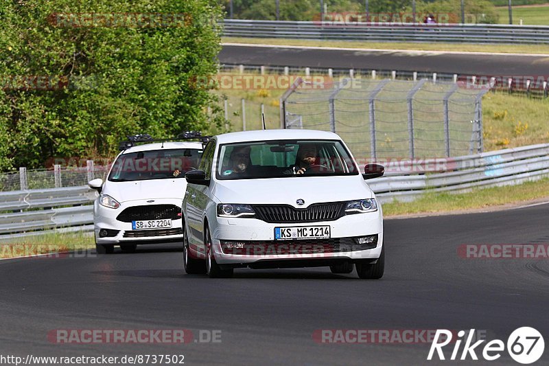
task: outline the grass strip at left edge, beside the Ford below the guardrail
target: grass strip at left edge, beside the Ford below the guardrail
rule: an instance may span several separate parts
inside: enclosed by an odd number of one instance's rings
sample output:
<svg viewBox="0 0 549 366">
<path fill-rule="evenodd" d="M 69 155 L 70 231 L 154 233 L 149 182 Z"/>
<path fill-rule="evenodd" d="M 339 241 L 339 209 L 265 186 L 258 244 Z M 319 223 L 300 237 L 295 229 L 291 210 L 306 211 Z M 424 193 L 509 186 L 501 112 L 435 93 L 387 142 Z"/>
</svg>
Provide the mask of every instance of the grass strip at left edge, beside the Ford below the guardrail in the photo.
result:
<svg viewBox="0 0 549 366">
<path fill-rule="evenodd" d="M 76 233 L 51 232 L 40 236 L 14 238 L 1 242 L 0 258 L 30 257 L 38 254 L 82 251 L 91 248 L 95 248 L 95 242 L 90 233 L 82 231 Z M 64 255 L 51 258 L 64 258 Z"/>
</svg>

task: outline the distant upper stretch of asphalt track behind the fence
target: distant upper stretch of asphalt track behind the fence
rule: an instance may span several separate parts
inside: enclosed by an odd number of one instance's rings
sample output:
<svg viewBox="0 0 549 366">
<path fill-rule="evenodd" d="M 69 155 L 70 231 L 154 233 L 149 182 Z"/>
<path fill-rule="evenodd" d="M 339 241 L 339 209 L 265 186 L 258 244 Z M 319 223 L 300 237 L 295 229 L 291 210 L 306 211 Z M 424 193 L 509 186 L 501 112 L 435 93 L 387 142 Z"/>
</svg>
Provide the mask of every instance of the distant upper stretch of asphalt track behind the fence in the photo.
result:
<svg viewBox="0 0 549 366">
<path fill-rule="evenodd" d="M 480 76 L 547 76 L 549 57 L 444 52 L 383 52 L 224 45 L 222 64 L 428 71 Z"/>
</svg>

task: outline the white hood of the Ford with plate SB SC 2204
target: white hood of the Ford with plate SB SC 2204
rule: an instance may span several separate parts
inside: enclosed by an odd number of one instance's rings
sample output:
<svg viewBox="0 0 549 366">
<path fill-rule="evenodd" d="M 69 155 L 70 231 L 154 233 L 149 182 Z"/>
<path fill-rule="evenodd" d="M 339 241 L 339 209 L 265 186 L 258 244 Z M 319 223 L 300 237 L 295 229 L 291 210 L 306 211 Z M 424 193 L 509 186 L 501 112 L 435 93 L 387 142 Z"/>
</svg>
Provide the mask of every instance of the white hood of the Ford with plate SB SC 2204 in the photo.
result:
<svg viewBox="0 0 549 366">
<path fill-rule="evenodd" d="M 119 203 L 143 199 L 178 198 L 183 200 L 187 181 L 185 178 L 151 179 L 149 181 L 111 182 L 103 186 L 102 194 L 108 194 Z"/>
</svg>

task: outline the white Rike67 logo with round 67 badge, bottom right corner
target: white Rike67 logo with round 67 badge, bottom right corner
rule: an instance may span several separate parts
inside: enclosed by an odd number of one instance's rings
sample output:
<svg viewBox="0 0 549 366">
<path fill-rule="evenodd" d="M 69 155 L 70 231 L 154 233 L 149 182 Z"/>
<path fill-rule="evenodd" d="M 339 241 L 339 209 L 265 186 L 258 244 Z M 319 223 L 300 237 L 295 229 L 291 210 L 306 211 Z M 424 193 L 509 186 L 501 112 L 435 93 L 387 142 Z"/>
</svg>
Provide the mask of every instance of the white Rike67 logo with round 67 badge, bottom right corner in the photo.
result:
<svg viewBox="0 0 549 366">
<path fill-rule="evenodd" d="M 486 341 L 485 339 L 473 343 L 474 334 L 474 329 L 469 330 L 468 334 L 465 334 L 464 330 L 460 330 L 457 334 L 457 339 L 452 339 L 452 332 L 449 330 L 436 330 L 427 359 L 432 360 L 436 352 L 439 360 L 445 360 L 443 347 L 449 345 L 449 343 L 454 343 L 454 350 L 452 350 L 452 356 L 449 358 L 452 361 L 463 361 L 469 359 L 469 357 L 471 360 L 478 360 L 477 352 L 482 354 L 484 360 L 495 361 L 507 349 L 509 356 L 513 360 L 526 365 L 539 360 L 541 355 L 544 354 L 544 337 L 534 328 L 517 328 L 511 333 L 509 339 L 507 339 L 507 344 L 500 339 L 494 339 L 486 343 L 484 347 L 480 347 L 480 345 Z M 463 350 L 460 350 L 463 341 L 465 341 L 465 344 L 463 345 Z"/>
</svg>

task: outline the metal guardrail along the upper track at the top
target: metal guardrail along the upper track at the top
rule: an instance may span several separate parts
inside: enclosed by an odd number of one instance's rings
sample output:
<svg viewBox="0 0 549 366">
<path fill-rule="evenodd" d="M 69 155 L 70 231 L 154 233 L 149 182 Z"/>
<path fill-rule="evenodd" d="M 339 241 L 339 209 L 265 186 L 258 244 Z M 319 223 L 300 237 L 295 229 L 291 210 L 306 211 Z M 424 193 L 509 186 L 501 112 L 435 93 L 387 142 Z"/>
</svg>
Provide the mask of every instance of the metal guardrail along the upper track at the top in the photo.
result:
<svg viewBox="0 0 549 366">
<path fill-rule="evenodd" d="M 549 26 L 224 20 L 224 36 L 382 42 L 549 43 Z"/>
</svg>

